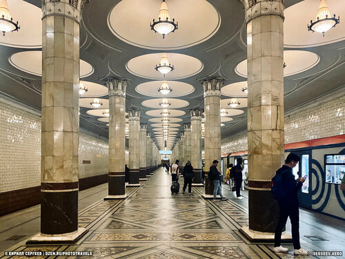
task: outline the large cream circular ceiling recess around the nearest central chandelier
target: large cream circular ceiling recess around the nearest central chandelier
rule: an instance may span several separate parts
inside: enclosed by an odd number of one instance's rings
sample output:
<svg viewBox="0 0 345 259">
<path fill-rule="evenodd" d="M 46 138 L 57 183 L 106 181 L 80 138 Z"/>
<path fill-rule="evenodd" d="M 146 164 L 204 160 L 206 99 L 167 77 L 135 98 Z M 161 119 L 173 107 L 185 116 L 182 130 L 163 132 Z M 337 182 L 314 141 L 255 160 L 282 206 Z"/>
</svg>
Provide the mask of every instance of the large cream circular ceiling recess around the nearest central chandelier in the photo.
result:
<svg viewBox="0 0 345 259">
<path fill-rule="evenodd" d="M 108 16 L 110 31 L 122 41 L 140 48 L 176 50 L 206 41 L 220 26 L 219 13 L 208 1 L 168 0 L 166 3 L 170 20 L 175 18 L 181 26 L 165 39 L 150 30 L 148 23 L 152 19 L 157 21 L 160 0 L 120 1 Z"/>
</svg>

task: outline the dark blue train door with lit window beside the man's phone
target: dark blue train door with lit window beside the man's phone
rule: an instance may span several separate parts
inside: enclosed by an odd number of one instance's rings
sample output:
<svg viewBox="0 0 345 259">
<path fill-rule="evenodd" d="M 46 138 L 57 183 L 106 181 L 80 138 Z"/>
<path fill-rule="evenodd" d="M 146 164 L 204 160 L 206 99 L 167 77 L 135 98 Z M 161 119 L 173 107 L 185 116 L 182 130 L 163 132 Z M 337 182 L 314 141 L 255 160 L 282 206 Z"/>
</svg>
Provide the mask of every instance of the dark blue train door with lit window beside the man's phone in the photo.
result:
<svg viewBox="0 0 345 259">
<path fill-rule="evenodd" d="M 301 160 L 293 169 L 295 178 L 302 178 L 306 176 L 306 181 L 303 183 L 302 190 L 298 193 L 299 205 L 311 209 L 311 150 L 307 151 L 293 151 L 299 155 Z"/>
</svg>

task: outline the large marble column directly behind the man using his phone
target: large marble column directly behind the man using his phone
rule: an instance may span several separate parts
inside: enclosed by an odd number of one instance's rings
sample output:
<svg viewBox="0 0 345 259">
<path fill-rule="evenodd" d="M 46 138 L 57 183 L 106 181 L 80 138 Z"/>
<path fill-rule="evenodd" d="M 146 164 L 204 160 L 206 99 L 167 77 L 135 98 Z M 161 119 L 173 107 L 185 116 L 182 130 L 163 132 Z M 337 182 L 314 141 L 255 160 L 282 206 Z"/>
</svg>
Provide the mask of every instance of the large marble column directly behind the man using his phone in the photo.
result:
<svg viewBox="0 0 345 259">
<path fill-rule="evenodd" d="M 284 164 L 283 1 L 246 5 L 246 23 L 249 229 L 242 230 L 253 240 L 273 239 L 279 212 L 271 178 Z"/>
</svg>

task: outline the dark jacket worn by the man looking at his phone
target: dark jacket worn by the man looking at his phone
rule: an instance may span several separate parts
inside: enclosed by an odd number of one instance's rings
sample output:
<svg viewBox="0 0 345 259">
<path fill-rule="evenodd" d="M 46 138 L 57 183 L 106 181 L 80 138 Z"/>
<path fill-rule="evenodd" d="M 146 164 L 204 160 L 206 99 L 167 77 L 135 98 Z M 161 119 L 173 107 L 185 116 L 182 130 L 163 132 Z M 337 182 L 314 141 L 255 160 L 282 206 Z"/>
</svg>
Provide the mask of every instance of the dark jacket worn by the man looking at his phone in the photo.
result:
<svg viewBox="0 0 345 259">
<path fill-rule="evenodd" d="M 298 191 L 301 189 L 303 183 L 296 182 L 295 175 L 293 175 L 293 169 L 289 166 L 282 166 L 277 170 L 277 174 L 281 174 L 282 177 L 282 188 L 285 198 L 279 202 L 283 206 L 299 206 L 298 202 Z"/>
</svg>

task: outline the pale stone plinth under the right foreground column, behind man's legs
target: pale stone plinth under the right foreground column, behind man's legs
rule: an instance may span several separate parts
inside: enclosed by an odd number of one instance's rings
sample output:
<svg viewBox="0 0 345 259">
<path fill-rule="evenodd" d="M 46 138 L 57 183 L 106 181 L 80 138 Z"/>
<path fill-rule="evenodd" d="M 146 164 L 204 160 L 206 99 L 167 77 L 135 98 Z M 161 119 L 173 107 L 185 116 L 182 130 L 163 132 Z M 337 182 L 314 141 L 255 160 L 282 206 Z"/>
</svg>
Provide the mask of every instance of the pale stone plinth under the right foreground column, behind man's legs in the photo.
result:
<svg viewBox="0 0 345 259">
<path fill-rule="evenodd" d="M 249 229 L 249 227 L 242 227 L 239 229 L 250 242 L 274 242 L 275 233 L 259 232 Z M 282 233 L 282 242 L 293 242 L 292 236 L 287 231 Z"/>
</svg>

